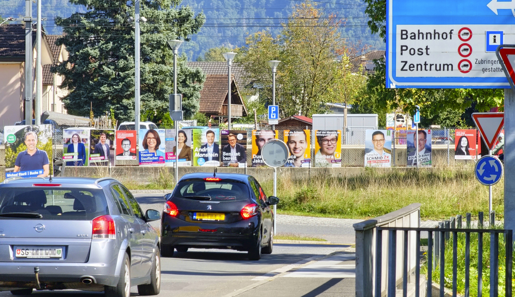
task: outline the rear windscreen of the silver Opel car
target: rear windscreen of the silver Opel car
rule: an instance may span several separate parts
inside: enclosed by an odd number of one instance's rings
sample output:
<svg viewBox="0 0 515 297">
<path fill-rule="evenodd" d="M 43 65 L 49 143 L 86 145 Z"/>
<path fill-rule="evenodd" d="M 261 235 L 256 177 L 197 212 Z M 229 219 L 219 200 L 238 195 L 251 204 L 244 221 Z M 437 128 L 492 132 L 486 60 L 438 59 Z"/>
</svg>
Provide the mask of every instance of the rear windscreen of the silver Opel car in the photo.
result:
<svg viewBox="0 0 515 297">
<path fill-rule="evenodd" d="M 100 189 L 59 188 L 56 190 L 11 187 L 0 189 L 0 220 L 18 217 L 45 220 L 92 220 L 108 214 L 106 197 Z"/>
</svg>

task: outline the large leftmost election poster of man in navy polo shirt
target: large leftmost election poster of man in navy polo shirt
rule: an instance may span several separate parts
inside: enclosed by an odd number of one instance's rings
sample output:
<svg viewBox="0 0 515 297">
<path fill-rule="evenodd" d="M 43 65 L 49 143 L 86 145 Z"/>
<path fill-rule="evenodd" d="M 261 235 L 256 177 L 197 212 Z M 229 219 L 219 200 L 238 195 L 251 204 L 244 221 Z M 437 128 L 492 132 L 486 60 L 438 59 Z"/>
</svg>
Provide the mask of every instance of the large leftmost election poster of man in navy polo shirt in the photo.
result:
<svg viewBox="0 0 515 297">
<path fill-rule="evenodd" d="M 52 125 L 5 126 L 5 177 L 47 177 L 52 168 Z"/>
</svg>

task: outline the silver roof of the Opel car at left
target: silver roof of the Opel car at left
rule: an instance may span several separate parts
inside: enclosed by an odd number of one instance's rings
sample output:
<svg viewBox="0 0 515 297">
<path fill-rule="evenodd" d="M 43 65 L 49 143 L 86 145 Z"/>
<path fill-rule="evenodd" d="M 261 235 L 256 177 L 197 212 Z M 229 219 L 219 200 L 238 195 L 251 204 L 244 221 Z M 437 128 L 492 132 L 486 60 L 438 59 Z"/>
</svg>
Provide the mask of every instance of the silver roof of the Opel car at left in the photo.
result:
<svg viewBox="0 0 515 297">
<path fill-rule="evenodd" d="M 75 178 L 75 177 L 55 177 L 50 182 L 49 178 L 7 178 L 0 187 L 32 187 L 33 184 L 60 184 L 62 187 L 84 187 L 84 188 L 101 188 L 101 184 L 118 182 L 113 178 Z M 52 189 L 49 187 L 49 189 Z"/>
</svg>

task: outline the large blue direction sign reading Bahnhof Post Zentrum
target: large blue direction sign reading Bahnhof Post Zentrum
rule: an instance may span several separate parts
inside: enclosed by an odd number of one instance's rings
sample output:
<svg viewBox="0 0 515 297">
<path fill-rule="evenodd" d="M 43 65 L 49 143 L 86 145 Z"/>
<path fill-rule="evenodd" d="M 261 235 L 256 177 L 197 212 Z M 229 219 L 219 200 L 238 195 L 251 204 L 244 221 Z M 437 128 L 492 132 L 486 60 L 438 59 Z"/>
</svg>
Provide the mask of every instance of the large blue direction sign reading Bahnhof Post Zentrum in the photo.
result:
<svg viewBox="0 0 515 297">
<path fill-rule="evenodd" d="M 387 88 L 502 88 L 515 1 L 387 0 Z"/>
</svg>

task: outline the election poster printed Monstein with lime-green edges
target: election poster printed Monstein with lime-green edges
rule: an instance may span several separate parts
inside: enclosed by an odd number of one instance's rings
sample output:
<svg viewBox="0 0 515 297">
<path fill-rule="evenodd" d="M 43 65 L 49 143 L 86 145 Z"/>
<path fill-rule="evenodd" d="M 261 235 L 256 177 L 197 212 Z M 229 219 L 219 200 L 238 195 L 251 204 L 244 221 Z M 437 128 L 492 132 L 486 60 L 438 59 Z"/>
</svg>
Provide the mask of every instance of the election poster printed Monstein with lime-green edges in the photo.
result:
<svg viewBox="0 0 515 297">
<path fill-rule="evenodd" d="M 220 166 L 220 129 L 193 129 L 193 166 Z"/>
</svg>

